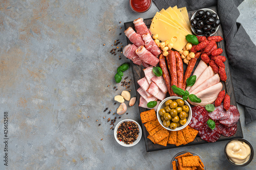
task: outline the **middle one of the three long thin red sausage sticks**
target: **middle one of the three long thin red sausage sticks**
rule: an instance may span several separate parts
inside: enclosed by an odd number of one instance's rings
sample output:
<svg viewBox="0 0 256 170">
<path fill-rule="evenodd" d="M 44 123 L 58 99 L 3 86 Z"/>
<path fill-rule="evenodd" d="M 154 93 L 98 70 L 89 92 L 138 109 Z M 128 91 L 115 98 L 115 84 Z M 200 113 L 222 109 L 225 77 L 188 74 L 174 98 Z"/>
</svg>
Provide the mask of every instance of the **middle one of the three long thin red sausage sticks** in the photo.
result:
<svg viewBox="0 0 256 170">
<path fill-rule="evenodd" d="M 170 78 L 171 80 L 171 85 L 176 85 L 178 86 L 178 82 L 177 82 L 177 67 L 176 67 L 176 58 L 175 58 L 175 54 L 174 51 L 170 51 L 169 53 L 169 64 L 170 64 Z M 177 94 L 174 93 L 173 89 L 172 89 L 172 95 L 177 96 Z"/>
</svg>

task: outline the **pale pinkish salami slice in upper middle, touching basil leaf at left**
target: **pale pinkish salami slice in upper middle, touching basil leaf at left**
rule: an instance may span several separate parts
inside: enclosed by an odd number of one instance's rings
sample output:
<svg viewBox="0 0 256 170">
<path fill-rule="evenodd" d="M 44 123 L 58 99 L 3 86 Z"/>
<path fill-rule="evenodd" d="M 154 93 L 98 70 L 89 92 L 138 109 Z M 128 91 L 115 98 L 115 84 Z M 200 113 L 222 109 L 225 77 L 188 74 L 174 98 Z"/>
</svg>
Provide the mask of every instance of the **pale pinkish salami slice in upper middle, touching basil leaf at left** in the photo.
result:
<svg viewBox="0 0 256 170">
<path fill-rule="evenodd" d="M 223 104 L 216 107 L 213 112 L 209 112 L 208 116 L 214 120 L 224 120 L 230 116 L 231 112 L 224 109 Z"/>
</svg>

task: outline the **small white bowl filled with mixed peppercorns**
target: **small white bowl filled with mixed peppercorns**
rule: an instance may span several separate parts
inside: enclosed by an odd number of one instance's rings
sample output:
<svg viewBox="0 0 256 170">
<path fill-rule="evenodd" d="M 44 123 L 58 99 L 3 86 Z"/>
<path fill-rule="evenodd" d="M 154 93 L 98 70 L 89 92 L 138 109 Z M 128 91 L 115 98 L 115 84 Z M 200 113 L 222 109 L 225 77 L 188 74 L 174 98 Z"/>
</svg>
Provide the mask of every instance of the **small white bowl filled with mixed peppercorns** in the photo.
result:
<svg viewBox="0 0 256 170">
<path fill-rule="evenodd" d="M 124 119 L 116 125 L 114 136 L 123 147 L 132 147 L 140 141 L 142 130 L 136 121 Z"/>
</svg>

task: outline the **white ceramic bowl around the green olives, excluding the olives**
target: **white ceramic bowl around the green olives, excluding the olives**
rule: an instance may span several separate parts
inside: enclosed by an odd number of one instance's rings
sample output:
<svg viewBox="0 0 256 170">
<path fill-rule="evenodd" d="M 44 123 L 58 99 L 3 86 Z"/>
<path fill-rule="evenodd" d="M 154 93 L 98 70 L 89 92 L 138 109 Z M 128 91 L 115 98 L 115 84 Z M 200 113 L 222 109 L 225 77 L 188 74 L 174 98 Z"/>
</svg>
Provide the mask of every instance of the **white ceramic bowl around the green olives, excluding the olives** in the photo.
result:
<svg viewBox="0 0 256 170">
<path fill-rule="evenodd" d="M 175 100 L 175 99 L 181 99 L 181 100 L 182 100 L 182 98 L 180 98 L 180 97 L 171 96 L 171 97 L 165 98 L 165 99 L 159 104 L 159 106 L 158 106 L 158 108 L 157 108 L 157 119 L 158 119 L 158 122 L 161 124 L 162 127 L 164 127 L 164 126 L 163 126 L 163 122 L 162 122 L 162 120 L 161 120 L 161 118 L 160 118 L 161 115 L 159 114 L 159 110 L 162 109 L 163 107 L 165 107 L 165 102 L 166 102 L 167 100 Z M 170 127 L 167 127 L 167 128 L 164 127 L 165 129 L 167 129 L 168 131 L 179 131 L 179 130 L 185 128 L 185 127 L 189 124 L 189 122 L 190 122 L 190 120 L 191 120 L 191 118 L 192 118 L 192 110 L 191 110 L 191 107 L 190 107 L 190 105 L 189 105 L 189 103 L 188 103 L 187 101 L 184 101 L 184 105 L 187 105 L 188 108 L 189 108 L 186 124 L 185 124 L 185 125 L 181 125 L 180 127 L 177 127 L 176 129 L 170 129 Z"/>
</svg>

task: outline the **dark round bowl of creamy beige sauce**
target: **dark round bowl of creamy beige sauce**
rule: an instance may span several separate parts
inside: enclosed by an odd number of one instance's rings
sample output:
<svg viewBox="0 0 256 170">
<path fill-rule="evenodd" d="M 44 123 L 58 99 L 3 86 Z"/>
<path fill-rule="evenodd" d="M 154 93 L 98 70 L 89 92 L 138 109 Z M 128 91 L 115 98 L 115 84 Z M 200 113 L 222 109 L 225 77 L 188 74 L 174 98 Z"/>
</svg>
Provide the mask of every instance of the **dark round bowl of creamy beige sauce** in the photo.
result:
<svg viewBox="0 0 256 170">
<path fill-rule="evenodd" d="M 248 165 L 254 156 L 252 145 L 245 139 L 234 138 L 225 145 L 227 161 L 234 166 Z"/>
</svg>

